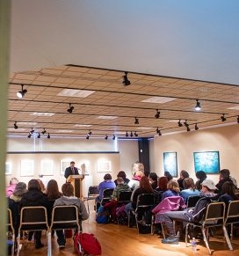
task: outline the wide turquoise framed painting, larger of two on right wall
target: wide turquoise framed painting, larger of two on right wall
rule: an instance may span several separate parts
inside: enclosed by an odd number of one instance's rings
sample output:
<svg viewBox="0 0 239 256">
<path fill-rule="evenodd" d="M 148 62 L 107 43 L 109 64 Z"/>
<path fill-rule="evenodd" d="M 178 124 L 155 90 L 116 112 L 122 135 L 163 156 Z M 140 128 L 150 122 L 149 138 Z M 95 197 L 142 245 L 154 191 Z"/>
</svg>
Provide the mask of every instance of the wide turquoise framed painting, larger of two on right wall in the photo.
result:
<svg viewBox="0 0 239 256">
<path fill-rule="evenodd" d="M 195 172 L 218 174 L 220 171 L 219 151 L 193 152 Z"/>
</svg>

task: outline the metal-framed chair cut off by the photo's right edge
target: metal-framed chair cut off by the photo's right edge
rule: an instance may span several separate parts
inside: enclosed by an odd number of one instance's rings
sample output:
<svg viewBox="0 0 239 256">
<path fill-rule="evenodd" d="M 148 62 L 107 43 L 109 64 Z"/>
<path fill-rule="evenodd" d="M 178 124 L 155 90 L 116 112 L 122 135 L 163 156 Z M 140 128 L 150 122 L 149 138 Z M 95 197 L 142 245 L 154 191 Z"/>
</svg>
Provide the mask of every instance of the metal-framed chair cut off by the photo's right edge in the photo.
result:
<svg viewBox="0 0 239 256">
<path fill-rule="evenodd" d="M 225 219 L 225 225 L 230 225 L 230 238 L 233 239 L 233 225 L 239 223 L 239 200 L 230 201 L 228 212 Z"/>
</svg>

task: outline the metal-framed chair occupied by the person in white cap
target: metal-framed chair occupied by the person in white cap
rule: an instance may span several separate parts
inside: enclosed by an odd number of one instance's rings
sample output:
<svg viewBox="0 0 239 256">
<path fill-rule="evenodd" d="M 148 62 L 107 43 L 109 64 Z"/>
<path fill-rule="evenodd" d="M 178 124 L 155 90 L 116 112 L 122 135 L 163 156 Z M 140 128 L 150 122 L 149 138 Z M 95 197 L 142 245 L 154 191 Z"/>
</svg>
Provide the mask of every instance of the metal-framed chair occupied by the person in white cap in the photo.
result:
<svg viewBox="0 0 239 256">
<path fill-rule="evenodd" d="M 208 204 L 206 208 L 206 214 L 201 223 L 186 223 L 185 228 L 185 245 L 187 246 L 187 238 L 188 238 L 188 227 L 192 225 L 192 227 L 199 227 L 203 234 L 203 239 L 206 244 L 206 248 L 209 254 L 212 254 L 208 240 L 207 234 L 208 229 L 212 227 L 221 226 L 223 230 L 224 237 L 228 243 L 228 247 L 230 250 L 233 250 L 230 239 L 228 238 L 228 232 L 225 226 L 225 203 L 224 202 L 211 202 Z"/>
</svg>

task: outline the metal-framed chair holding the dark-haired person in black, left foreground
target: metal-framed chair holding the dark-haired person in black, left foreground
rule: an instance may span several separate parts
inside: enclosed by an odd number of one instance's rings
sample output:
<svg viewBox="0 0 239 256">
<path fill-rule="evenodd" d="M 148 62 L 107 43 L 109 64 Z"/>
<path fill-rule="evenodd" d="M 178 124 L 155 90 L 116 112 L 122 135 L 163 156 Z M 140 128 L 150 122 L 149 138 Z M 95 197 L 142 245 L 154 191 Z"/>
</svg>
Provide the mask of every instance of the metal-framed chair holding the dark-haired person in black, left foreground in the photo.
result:
<svg viewBox="0 0 239 256">
<path fill-rule="evenodd" d="M 47 230 L 47 256 L 52 255 L 51 232 L 47 223 L 47 208 L 43 206 L 24 207 L 20 212 L 20 224 L 18 229 L 18 252 L 20 251 L 21 231 Z"/>
</svg>

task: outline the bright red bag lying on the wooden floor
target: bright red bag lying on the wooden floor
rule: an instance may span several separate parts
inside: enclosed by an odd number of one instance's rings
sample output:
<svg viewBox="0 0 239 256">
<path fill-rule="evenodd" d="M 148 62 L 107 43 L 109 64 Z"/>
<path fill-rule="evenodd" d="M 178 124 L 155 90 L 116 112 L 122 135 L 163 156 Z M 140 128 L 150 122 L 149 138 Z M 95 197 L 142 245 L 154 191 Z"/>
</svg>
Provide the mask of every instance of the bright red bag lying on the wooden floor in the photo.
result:
<svg viewBox="0 0 239 256">
<path fill-rule="evenodd" d="M 76 233 L 74 245 L 78 253 L 85 252 L 91 255 L 101 255 L 101 245 L 93 234 Z"/>
</svg>

